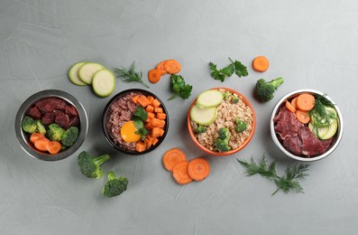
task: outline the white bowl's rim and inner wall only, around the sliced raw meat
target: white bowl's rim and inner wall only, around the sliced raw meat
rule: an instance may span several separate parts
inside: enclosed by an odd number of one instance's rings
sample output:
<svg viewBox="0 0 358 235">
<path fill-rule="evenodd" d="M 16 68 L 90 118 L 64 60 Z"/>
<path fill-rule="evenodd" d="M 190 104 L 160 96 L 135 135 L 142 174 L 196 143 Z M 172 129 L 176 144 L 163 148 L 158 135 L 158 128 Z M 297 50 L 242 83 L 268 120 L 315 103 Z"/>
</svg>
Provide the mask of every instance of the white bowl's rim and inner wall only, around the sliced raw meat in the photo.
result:
<svg viewBox="0 0 358 235">
<path fill-rule="evenodd" d="M 298 161 L 313 162 L 313 161 L 323 159 L 327 155 L 330 155 L 330 154 L 332 154 L 332 152 L 335 151 L 335 148 L 339 145 L 339 143 L 342 139 L 342 136 L 343 136 L 343 129 L 344 129 L 343 117 L 342 117 L 341 111 L 339 110 L 337 105 L 335 105 L 335 111 L 337 112 L 337 115 L 338 115 L 338 128 L 337 128 L 337 132 L 335 133 L 333 142 L 331 143 L 331 145 L 329 146 L 329 148 L 326 150 L 325 153 L 323 153 L 322 155 L 315 155 L 315 156 L 311 156 L 311 157 L 304 156 L 304 155 L 292 154 L 280 142 L 279 136 L 275 132 L 275 124 L 273 122 L 273 118 L 275 118 L 275 116 L 279 112 L 280 108 L 285 105 L 286 100 L 292 99 L 301 93 L 310 93 L 312 95 L 317 94 L 317 95 L 322 95 L 322 96 L 325 95 L 323 92 L 318 91 L 316 89 L 297 89 L 297 90 L 293 90 L 293 91 L 289 92 L 287 95 L 283 96 L 279 100 L 279 102 L 277 102 L 276 106 L 272 110 L 271 119 L 270 119 L 271 137 L 272 137 L 272 140 L 275 143 L 275 145 L 278 146 L 280 148 L 280 150 L 285 155 L 288 155 L 289 157 L 296 159 Z M 335 104 L 333 99 L 329 98 L 328 96 L 325 96 L 325 97 L 326 97 L 326 99 L 329 99 L 332 103 Z"/>
</svg>

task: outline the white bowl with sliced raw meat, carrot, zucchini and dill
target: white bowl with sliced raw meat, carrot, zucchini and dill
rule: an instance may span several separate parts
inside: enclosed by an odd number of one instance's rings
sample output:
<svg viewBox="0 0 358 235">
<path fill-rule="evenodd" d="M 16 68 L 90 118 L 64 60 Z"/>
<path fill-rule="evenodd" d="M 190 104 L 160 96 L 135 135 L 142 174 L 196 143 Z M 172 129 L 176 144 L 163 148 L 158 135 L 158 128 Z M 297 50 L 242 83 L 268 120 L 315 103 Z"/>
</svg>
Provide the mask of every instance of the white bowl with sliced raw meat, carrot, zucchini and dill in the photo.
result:
<svg viewBox="0 0 358 235">
<path fill-rule="evenodd" d="M 285 155 L 304 162 L 317 161 L 334 152 L 343 127 L 342 114 L 333 99 L 315 89 L 289 92 L 273 108 L 270 119 L 275 145 Z"/>
</svg>

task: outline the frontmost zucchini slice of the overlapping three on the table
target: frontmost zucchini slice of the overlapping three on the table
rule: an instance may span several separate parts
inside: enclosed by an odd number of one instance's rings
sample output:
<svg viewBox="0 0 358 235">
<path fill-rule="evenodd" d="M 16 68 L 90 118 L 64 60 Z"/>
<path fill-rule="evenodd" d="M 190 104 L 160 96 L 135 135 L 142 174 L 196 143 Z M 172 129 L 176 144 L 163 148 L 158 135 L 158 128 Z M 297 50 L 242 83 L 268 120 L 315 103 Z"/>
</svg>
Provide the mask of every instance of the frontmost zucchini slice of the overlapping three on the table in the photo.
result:
<svg viewBox="0 0 358 235">
<path fill-rule="evenodd" d="M 92 88 L 96 96 L 108 97 L 115 90 L 115 74 L 106 69 L 96 71 L 92 80 Z"/>
</svg>

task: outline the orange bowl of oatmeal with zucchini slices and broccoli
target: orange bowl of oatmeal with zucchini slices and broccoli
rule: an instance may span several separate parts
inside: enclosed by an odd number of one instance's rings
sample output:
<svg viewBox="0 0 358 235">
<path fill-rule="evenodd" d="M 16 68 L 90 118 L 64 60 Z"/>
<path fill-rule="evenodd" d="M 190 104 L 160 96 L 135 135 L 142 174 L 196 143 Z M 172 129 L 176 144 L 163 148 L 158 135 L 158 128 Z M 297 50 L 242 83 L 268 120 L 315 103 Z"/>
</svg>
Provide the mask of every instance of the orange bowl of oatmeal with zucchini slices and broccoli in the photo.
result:
<svg viewBox="0 0 358 235">
<path fill-rule="evenodd" d="M 188 132 L 210 155 L 233 155 L 251 141 L 256 127 L 252 104 L 234 89 L 208 89 L 188 110 Z"/>
</svg>

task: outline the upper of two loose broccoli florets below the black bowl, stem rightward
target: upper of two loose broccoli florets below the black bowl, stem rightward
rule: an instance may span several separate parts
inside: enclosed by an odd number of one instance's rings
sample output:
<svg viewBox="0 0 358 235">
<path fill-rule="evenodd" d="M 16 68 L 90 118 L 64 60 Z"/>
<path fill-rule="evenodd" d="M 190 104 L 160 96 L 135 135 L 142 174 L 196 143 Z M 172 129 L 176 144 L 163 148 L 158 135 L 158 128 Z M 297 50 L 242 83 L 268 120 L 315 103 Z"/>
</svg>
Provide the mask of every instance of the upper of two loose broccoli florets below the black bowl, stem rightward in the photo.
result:
<svg viewBox="0 0 358 235">
<path fill-rule="evenodd" d="M 101 164 L 104 164 L 109 158 L 109 155 L 92 156 L 83 151 L 78 155 L 79 170 L 88 178 L 99 179 L 104 174 Z"/>
</svg>

